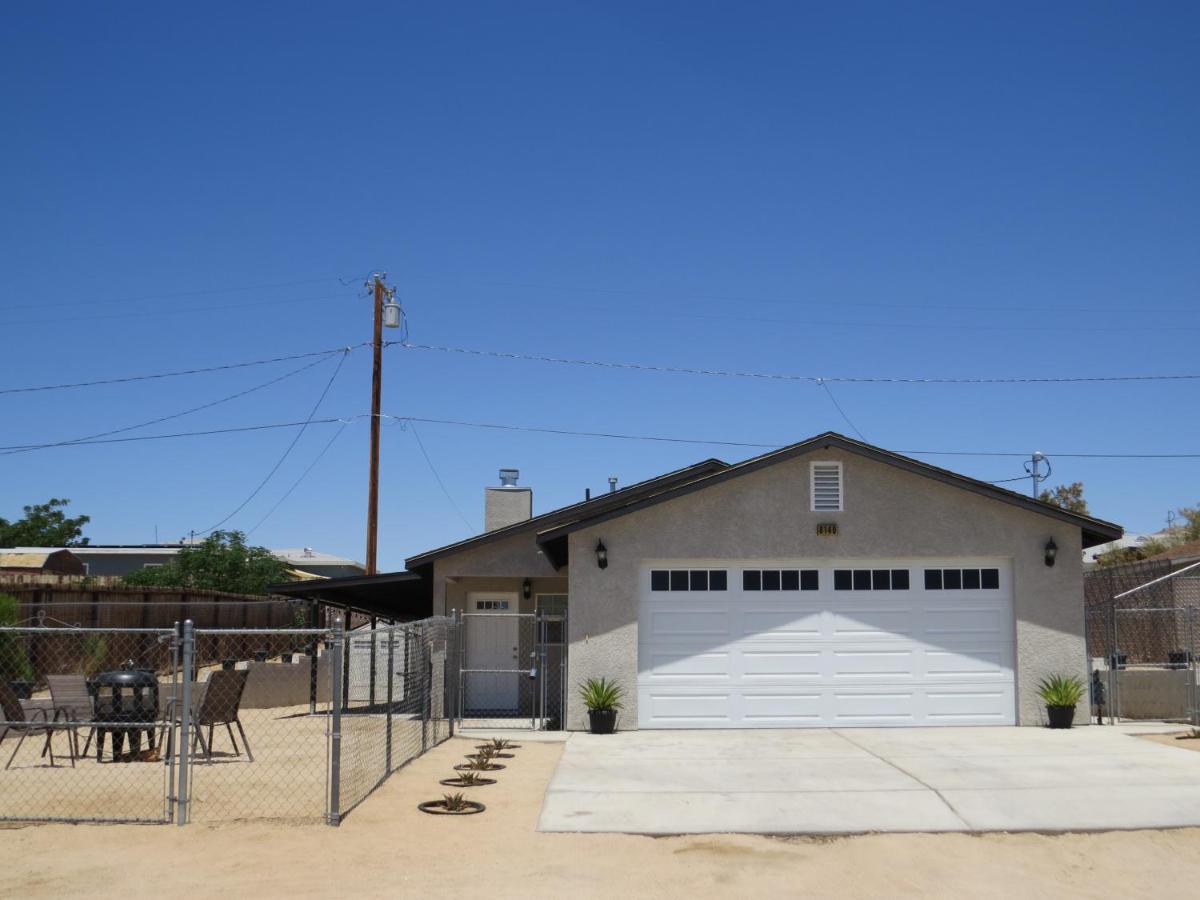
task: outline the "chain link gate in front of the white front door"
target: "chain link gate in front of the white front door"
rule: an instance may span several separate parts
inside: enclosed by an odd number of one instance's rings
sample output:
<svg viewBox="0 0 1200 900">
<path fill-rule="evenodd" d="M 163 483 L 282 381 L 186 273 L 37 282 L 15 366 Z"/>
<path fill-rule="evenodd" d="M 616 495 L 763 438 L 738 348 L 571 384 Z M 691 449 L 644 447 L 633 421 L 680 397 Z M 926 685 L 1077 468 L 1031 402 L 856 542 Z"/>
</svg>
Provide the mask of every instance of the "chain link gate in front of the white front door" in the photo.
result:
<svg viewBox="0 0 1200 900">
<path fill-rule="evenodd" d="M 562 730 L 565 612 L 467 612 L 455 620 L 458 727 Z"/>
</svg>

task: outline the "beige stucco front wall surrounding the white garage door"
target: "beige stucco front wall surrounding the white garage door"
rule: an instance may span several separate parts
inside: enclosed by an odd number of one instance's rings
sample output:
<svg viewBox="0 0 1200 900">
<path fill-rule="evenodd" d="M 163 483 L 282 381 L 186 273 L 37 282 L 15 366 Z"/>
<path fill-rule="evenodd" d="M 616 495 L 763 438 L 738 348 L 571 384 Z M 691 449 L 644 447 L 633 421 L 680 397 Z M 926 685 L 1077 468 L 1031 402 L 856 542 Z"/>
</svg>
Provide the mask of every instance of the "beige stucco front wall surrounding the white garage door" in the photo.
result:
<svg viewBox="0 0 1200 900">
<path fill-rule="evenodd" d="M 845 511 L 809 511 L 812 460 L 842 461 Z M 830 521 L 838 535 L 818 538 L 816 523 Z M 1048 568 L 1051 536 L 1058 562 Z M 595 562 L 600 539 L 605 570 Z M 617 678 L 622 727 L 637 726 L 644 559 L 1004 557 L 1013 565 L 1018 721 L 1037 725 L 1045 715 L 1038 680 L 1087 674 L 1080 551 L 1080 530 L 1066 522 L 845 451 L 814 451 L 570 535 L 569 683 Z M 569 727 L 584 727 L 584 715 L 572 690 Z"/>
</svg>

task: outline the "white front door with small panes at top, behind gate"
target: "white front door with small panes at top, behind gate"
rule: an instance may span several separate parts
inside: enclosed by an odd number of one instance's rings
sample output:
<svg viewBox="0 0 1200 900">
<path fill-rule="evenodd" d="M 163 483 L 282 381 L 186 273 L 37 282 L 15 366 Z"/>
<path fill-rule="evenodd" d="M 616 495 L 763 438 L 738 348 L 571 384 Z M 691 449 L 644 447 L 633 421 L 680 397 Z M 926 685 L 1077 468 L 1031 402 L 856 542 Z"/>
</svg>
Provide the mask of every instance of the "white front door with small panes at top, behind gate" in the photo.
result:
<svg viewBox="0 0 1200 900">
<path fill-rule="evenodd" d="M 516 712 L 521 686 L 517 595 L 473 592 L 468 602 L 467 712 Z"/>
</svg>

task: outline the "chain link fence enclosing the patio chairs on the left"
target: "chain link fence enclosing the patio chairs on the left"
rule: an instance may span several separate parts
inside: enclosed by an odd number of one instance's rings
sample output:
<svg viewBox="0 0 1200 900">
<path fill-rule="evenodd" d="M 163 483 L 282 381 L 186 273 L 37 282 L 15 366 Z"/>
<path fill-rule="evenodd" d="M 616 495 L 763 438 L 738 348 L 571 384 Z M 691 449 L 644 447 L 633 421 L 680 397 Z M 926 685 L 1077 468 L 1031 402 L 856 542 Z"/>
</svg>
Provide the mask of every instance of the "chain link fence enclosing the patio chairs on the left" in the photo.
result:
<svg viewBox="0 0 1200 900">
<path fill-rule="evenodd" d="M 450 736 L 448 618 L 0 626 L 0 820 L 336 824 Z"/>
</svg>

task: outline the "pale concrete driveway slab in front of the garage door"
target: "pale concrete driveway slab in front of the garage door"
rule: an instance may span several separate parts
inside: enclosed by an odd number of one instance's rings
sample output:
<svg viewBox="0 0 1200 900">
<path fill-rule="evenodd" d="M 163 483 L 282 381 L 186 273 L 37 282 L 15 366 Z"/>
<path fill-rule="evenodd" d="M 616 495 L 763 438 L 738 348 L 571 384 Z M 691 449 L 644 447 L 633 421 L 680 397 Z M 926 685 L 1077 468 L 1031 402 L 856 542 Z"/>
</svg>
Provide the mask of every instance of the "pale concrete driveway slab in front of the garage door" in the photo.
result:
<svg viewBox="0 0 1200 900">
<path fill-rule="evenodd" d="M 1200 752 L 1121 727 L 572 734 L 541 832 L 1200 826 Z"/>
</svg>

